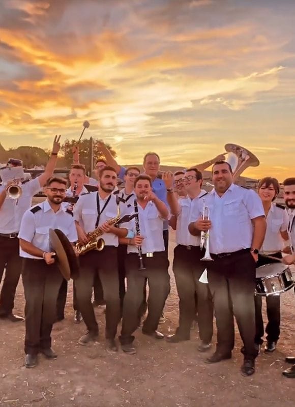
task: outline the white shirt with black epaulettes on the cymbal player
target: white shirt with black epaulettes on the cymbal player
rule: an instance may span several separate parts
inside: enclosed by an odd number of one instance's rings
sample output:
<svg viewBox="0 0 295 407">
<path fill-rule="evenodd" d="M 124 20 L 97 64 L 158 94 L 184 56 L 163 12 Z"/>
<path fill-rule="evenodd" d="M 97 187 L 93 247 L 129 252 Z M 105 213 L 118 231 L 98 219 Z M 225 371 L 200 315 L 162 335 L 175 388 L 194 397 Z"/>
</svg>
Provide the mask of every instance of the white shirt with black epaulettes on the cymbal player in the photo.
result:
<svg viewBox="0 0 295 407">
<path fill-rule="evenodd" d="M 34 246 L 42 251 L 49 252 L 49 229 L 60 229 L 67 236 L 70 242 L 78 240 L 77 230 L 73 216 L 66 212 L 66 209 L 61 205 L 61 208 L 54 213 L 48 200 L 35 205 L 33 208 L 40 207 L 41 209 L 35 213 L 28 209 L 21 220 L 19 239 L 31 242 Z M 36 258 L 26 253 L 21 248 L 19 250 L 21 257 Z"/>
</svg>

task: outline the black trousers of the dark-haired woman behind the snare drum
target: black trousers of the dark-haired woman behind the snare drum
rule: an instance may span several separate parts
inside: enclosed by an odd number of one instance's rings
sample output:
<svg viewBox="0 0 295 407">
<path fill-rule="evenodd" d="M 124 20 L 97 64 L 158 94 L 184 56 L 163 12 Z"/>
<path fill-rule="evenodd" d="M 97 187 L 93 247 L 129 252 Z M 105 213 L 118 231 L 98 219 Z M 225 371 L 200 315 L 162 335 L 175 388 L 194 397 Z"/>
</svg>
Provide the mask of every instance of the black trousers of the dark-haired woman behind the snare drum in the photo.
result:
<svg viewBox="0 0 295 407">
<path fill-rule="evenodd" d="M 273 257 L 282 258 L 282 253 L 274 253 Z M 265 264 L 276 263 L 275 260 L 271 258 L 262 257 L 258 254 L 258 261 L 256 267 L 263 266 Z M 263 343 L 264 327 L 262 318 L 262 297 L 254 296 L 255 301 L 255 321 L 256 321 L 256 334 L 255 343 L 261 345 Z M 280 296 L 268 296 L 265 297 L 267 303 L 267 315 L 268 324 L 265 328 L 267 333 L 267 340 L 270 342 L 277 342 L 280 337 L 280 323 L 281 323 L 281 307 L 280 307 Z"/>
</svg>

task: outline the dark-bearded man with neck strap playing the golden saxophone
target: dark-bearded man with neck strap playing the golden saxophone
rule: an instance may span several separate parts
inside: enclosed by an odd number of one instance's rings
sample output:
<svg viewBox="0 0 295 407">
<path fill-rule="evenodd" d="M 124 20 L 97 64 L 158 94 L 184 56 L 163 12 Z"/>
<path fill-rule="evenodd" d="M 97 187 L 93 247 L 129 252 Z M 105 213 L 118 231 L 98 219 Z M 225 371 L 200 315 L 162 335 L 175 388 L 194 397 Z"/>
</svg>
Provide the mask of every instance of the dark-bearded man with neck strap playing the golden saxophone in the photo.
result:
<svg viewBox="0 0 295 407">
<path fill-rule="evenodd" d="M 100 172 L 98 192 L 82 195 L 73 210 L 79 242 L 88 243 L 86 234 L 99 227 L 103 232 L 99 238 L 105 243 L 101 251 L 91 250 L 80 255 L 80 274 L 75 280 L 75 286 L 78 307 L 87 332 L 79 339 L 79 344 L 86 345 L 98 339 L 99 328 L 91 304 L 91 296 L 94 276 L 99 274 L 106 302 L 106 340 L 109 352 L 117 351 L 115 335 L 120 321 L 118 238 L 125 237 L 128 233 L 125 228 L 110 225 L 110 221 L 118 215 L 116 196 L 112 194 L 116 179 L 115 170 L 109 166 L 104 167 Z M 122 212 L 121 216 L 124 215 L 124 210 Z"/>
</svg>

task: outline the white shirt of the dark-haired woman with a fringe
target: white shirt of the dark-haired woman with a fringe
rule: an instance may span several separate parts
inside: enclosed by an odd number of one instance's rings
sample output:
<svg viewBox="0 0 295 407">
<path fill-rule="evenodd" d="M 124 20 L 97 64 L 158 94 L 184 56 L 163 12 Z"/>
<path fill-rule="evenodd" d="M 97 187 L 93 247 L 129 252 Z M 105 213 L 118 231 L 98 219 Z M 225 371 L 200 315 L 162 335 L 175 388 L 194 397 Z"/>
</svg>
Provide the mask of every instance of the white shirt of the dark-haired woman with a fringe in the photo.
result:
<svg viewBox="0 0 295 407">
<path fill-rule="evenodd" d="M 287 212 L 272 203 L 267 216 L 267 231 L 265 232 L 260 253 L 277 253 L 283 249 L 284 241 L 280 232 L 287 230 L 288 222 Z"/>
</svg>

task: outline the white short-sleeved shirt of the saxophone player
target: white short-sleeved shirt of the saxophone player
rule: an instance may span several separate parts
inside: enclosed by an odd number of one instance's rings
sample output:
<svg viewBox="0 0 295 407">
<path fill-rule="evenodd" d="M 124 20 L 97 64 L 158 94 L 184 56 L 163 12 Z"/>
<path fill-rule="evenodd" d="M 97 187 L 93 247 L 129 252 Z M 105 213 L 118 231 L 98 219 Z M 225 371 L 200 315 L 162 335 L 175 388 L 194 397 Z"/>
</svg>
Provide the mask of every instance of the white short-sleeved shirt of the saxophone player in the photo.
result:
<svg viewBox="0 0 295 407">
<path fill-rule="evenodd" d="M 91 192 L 87 195 L 81 195 L 73 209 L 74 219 L 79 222 L 79 225 L 83 230 L 88 233 L 95 230 L 95 224 L 98 217 L 96 196 L 98 192 Z M 98 226 L 101 226 L 104 222 L 117 216 L 117 204 L 116 196 L 108 195 L 102 199 L 99 196 L 99 207 L 102 211 L 105 203 L 110 196 L 110 200 L 107 206 L 104 208 L 100 215 Z M 126 215 L 125 207 L 120 206 L 120 217 Z M 125 224 L 123 225 L 125 227 Z M 118 246 L 119 238 L 113 233 L 104 233 L 100 236 L 105 242 L 106 246 Z"/>
</svg>

